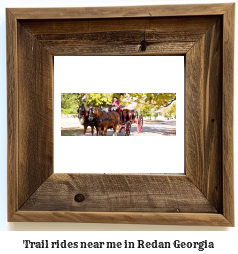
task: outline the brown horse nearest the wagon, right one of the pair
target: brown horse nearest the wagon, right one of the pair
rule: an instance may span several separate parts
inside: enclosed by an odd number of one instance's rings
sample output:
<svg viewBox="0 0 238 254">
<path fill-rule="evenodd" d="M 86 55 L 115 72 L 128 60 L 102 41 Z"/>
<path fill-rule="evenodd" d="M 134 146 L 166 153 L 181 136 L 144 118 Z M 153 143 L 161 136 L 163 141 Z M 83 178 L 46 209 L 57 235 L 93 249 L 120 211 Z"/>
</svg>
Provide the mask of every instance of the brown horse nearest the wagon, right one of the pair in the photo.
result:
<svg viewBox="0 0 238 254">
<path fill-rule="evenodd" d="M 117 112 L 105 112 L 94 106 L 89 108 L 89 121 L 95 122 L 99 130 L 99 136 L 101 136 L 101 129 L 104 130 L 104 136 L 107 136 L 107 129 L 113 128 L 113 136 L 117 136 L 117 128 L 120 127 L 120 116 Z"/>
</svg>

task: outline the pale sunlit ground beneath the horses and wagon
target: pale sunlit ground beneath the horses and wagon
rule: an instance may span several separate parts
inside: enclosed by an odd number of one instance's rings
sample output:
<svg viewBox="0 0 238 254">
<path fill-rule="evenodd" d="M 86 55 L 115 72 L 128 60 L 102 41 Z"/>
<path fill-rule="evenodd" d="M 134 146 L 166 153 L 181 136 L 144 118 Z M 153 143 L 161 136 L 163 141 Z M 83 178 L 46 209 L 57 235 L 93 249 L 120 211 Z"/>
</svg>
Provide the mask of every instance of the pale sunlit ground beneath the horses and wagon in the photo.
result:
<svg viewBox="0 0 238 254">
<path fill-rule="evenodd" d="M 83 136 L 84 126 L 79 124 L 78 118 L 62 117 L 61 118 L 61 136 Z M 96 130 L 94 129 L 94 136 Z M 108 136 L 113 135 L 113 130 L 107 131 Z M 144 121 L 143 129 L 140 134 L 137 133 L 137 125 L 132 124 L 130 136 L 175 136 L 176 135 L 176 120 L 168 120 L 161 122 Z M 87 128 L 86 136 L 92 136 L 91 127 Z M 125 131 L 122 130 L 118 136 L 125 136 Z"/>
</svg>

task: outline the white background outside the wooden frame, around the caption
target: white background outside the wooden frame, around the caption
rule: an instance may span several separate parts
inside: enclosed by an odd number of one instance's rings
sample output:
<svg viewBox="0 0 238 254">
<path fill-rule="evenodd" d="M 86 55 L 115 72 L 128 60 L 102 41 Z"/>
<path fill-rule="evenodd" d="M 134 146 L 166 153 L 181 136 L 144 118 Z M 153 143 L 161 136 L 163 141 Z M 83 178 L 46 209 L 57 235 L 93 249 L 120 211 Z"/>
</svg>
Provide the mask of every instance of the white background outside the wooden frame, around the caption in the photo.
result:
<svg viewBox="0 0 238 254">
<path fill-rule="evenodd" d="M 237 252 L 237 231 L 238 226 L 234 228 L 226 227 L 199 227 L 199 226 L 159 226 L 159 225 L 125 225 L 125 224 L 94 224 L 94 223 L 7 223 L 7 107 L 6 107 L 6 42 L 5 42 L 5 8 L 6 7 L 79 7 L 79 6 L 118 6 L 118 5 L 153 5 L 153 4 L 191 4 L 191 3 L 223 3 L 231 2 L 230 0 L 186 0 L 186 1 L 175 1 L 175 0 L 117 0 L 117 1 L 90 1 L 90 0 L 1 0 L 0 2 L 0 229 L 3 231 L 25 231 L 25 232 L 2 232 L 0 233 L 0 244 L 1 250 L 3 253 L 10 253 L 11 250 L 22 251 L 22 240 L 23 239 L 34 239 L 41 240 L 44 238 L 59 238 L 70 240 L 71 237 L 77 236 L 79 240 L 87 239 L 96 241 L 100 236 L 103 239 L 108 239 L 108 237 L 116 239 L 130 237 L 140 237 L 140 238 L 150 238 L 151 241 L 154 239 L 159 239 L 163 236 L 166 236 L 165 240 L 173 241 L 174 238 L 183 238 L 183 239 L 192 239 L 203 240 L 211 239 L 216 243 L 216 249 L 212 252 L 210 250 L 205 250 L 206 253 L 218 253 L 219 250 L 223 253 L 236 253 Z M 233 1 L 234 2 L 234 1 Z M 236 6 L 236 14 L 237 6 Z M 236 38 L 238 38 L 237 29 L 238 22 L 236 18 Z M 236 43 L 237 48 L 237 43 Z M 238 69 L 237 66 L 237 50 L 235 50 L 235 70 Z M 234 162 L 235 162 L 235 208 L 236 208 L 236 218 L 238 217 L 238 206 L 237 206 L 237 169 L 238 169 L 238 139 L 237 139 L 237 124 L 238 124 L 238 94 L 237 94 L 237 71 L 235 72 L 235 100 L 234 100 Z M 237 224 L 237 219 L 236 219 Z M 29 230 L 36 230 L 36 234 L 28 232 Z M 116 232 L 41 232 L 48 230 L 64 231 L 116 231 Z M 118 231 L 140 231 L 140 232 L 118 232 Z M 150 231 L 150 232 L 141 232 L 141 231 Z M 181 231 L 181 232 L 159 232 L 159 231 Z M 193 232 L 187 232 L 193 231 Z M 206 232 L 198 232 L 206 231 Z M 232 232 L 213 232 L 213 231 L 232 231 Z M 38 250 L 38 253 L 41 249 Z M 78 250 L 79 251 L 79 250 Z M 77 253 L 78 253 L 77 251 Z M 121 251 L 121 250 L 119 250 Z M 144 250 L 143 250 L 144 251 Z M 163 253 L 163 250 L 151 250 L 156 253 L 158 251 Z M 184 253 L 185 250 L 174 249 L 164 251 L 165 253 Z M 138 251 L 137 251 L 138 252 Z M 30 253 L 34 251 L 30 250 Z M 67 251 L 69 253 L 69 251 Z M 192 250 L 188 250 L 187 253 L 193 253 Z M 197 250 L 194 250 L 194 253 L 198 253 Z"/>
</svg>

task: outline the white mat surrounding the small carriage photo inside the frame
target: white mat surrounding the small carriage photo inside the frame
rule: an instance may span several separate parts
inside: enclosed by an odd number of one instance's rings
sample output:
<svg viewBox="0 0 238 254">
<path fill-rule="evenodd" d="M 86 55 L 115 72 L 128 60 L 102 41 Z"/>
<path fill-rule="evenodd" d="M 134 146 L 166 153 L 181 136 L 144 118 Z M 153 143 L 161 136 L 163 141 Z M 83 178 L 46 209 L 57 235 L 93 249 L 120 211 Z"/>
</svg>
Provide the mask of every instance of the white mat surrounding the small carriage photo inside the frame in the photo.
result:
<svg viewBox="0 0 238 254">
<path fill-rule="evenodd" d="M 176 136 L 61 136 L 61 93 L 113 92 L 176 93 Z M 184 173 L 183 56 L 55 57 L 54 109 L 54 172 Z"/>
</svg>

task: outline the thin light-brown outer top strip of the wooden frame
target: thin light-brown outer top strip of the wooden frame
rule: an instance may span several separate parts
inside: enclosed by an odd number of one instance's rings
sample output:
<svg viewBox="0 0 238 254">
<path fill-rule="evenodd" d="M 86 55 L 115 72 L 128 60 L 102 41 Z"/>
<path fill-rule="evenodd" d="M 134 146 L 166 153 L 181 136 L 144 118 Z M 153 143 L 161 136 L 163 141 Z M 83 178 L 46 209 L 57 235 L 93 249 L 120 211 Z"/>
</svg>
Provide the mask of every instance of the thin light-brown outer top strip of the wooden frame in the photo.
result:
<svg viewBox="0 0 238 254">
<path fill-rule="evenodd" d="M 17 19 L 96 19 L 222 15 L 232 4 L 186 4 L 83 8 L 10 8 Z"/>
</svg>

